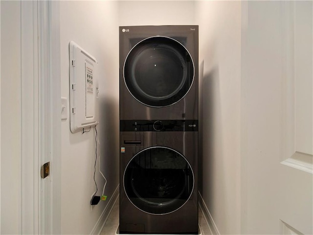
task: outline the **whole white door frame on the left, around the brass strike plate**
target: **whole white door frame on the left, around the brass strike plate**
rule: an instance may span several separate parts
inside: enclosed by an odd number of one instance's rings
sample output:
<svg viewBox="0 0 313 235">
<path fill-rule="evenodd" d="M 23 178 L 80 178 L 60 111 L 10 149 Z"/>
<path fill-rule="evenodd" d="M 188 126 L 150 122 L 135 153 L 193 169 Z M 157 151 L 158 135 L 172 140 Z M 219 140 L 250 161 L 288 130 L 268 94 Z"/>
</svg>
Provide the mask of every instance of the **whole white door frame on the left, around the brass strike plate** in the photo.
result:
<svg viewBox="0 0 313 235">
<path fill-rule="evenodd" d="M 21 1 L 21 231 L 61 234 L 59 3 Z M 50 176 L 41 166 L 50 162 Z"/>
</svg>

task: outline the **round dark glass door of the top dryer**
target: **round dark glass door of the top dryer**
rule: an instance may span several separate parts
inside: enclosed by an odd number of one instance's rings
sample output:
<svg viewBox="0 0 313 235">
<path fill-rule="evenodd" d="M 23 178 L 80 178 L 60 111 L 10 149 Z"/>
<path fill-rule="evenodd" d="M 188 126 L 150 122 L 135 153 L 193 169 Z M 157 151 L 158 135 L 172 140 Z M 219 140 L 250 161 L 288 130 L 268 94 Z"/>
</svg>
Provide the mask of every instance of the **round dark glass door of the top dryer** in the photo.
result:
<svg viewBox="0 0 313 235">
<path fill-rule="evenodd" d="M 182 99 L 194 79 L 194 64 L 177 40 L 152 37 L 137 43 L 124 63 L 125 84 L 139 102 L 165 107 Z"/>
</svg>

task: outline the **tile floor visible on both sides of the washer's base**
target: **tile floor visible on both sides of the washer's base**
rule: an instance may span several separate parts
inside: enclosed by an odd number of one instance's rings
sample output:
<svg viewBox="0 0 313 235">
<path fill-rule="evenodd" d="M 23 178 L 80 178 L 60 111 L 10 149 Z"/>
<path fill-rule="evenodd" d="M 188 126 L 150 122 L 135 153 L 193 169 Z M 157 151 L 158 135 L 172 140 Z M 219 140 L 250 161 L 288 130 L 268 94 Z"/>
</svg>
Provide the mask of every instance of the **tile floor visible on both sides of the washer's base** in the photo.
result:
<svg viewBox="0 0 313 235">
<path fill-rule="evenodd" d="M 115 235 L 116 230 L 118 228 L 118 220 L 119 220 L 119 200 L 117 199 L 109 215 L 109 218 L 102 229 L 101 235 Z M 200 209 L 199 209 L 199 227 L 201 235 L 211 235 L 210 230 L 205 222 L 205 219 Z"/>
</svg>

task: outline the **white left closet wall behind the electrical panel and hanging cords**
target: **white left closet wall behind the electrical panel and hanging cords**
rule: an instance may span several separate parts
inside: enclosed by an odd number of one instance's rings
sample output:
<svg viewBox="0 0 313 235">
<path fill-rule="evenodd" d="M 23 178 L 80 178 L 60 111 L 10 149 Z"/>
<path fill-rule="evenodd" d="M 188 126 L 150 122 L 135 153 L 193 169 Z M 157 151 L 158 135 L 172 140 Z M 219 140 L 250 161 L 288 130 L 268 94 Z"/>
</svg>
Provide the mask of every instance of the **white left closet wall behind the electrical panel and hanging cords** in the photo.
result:
<svg viewBox="0 0 313 235">
<path fill-rule="evenodd" d="M 68 43 L 74 40 L 98 61 L 95 76 L 99 80 L 101 171 L 108 179 L 107 201 L 90 206 L 95 192 L 93 181 L 95 133 L 72 134 L 67 120 L 62 121 L 62 234 L 89 234 L 105 205 L 118 186 L 118 11 L 116 1 L 60 1 L 61 96 L 69 107 Z M 69 112 L 69 111 L 68 111 Z M 102 194 L 104 179 L 96 166 L 98 193 Z M 103 222 L 103 221 L 102 221 Z"/>
</svg>

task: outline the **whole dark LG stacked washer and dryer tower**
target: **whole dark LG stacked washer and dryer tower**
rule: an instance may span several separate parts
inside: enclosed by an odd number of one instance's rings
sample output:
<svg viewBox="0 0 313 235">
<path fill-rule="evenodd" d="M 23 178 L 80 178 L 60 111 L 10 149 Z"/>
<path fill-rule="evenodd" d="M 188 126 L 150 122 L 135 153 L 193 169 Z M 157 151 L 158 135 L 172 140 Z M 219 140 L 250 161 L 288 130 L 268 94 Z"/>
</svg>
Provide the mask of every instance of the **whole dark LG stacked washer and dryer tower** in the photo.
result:
<svg viewBox="0 0 313 235">
<path fill-rule="evenodd" d="M 120 234 L 199 234 L 198 35 L 119 27 Z"/>
</svg>

